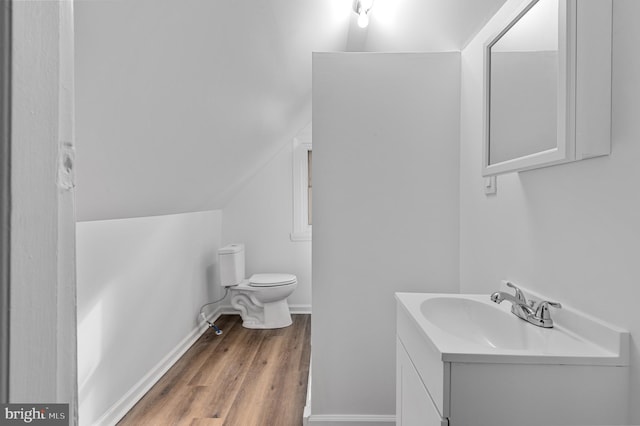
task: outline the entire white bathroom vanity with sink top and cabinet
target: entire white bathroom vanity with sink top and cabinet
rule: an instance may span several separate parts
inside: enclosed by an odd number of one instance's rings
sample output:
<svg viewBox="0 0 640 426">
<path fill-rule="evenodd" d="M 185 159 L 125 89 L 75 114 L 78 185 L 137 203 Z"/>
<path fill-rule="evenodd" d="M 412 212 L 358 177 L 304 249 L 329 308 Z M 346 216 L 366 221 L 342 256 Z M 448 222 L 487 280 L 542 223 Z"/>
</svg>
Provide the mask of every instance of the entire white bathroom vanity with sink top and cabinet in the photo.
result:
<svg viewBox="0 0 640 426">
<path fill-rule="evenodd" d="M 396 424 L 627 424 L 626 331 L 567 307 L 536 327 L 489 295 L 396 299 Z"/>
</svg>

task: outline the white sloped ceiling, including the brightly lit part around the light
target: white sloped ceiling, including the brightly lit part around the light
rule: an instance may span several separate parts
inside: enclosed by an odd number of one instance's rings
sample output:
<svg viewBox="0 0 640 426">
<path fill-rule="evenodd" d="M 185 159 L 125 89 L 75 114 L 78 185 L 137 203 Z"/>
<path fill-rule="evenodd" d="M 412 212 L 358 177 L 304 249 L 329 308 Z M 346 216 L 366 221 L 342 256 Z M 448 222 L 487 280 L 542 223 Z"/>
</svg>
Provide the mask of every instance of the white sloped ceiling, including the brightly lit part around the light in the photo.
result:
<svg viewBox="0 0 640 426">
<path fill-rule="evenodd" d="M 311 120 L 313 51 L 460 50 L 505 0 L 76 0 L 78 220 L 222 208 Z"/>
</svg>

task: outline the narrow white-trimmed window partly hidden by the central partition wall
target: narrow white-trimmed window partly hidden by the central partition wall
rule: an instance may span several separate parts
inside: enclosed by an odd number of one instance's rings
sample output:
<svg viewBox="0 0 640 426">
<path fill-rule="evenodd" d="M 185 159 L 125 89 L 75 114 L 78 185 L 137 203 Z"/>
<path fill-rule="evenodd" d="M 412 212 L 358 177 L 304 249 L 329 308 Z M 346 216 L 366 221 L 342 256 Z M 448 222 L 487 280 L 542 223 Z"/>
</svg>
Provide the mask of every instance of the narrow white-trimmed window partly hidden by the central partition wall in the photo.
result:
<svg viewBox="0 0 640 426">
<path fill-rule="evenodd" d="M 293 230 L 291 241 L 310 241 L 313 184 L 311 137 L 293 140 Z"/>
</svg>

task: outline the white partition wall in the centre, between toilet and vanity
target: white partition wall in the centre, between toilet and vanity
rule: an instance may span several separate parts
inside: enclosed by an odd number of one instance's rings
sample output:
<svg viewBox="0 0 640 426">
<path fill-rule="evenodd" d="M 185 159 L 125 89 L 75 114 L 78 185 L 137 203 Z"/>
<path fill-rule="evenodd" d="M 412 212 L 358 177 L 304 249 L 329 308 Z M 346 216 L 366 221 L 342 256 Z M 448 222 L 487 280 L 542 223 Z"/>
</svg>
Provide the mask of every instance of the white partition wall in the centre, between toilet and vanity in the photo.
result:
<svg viewBox="0 0 640 426">
<path fill-rule="evenodd" d="M 458 290 L 460 55 L 313 66 L 311 421 L 393 423 L 394 292 Z"/>
</svg>

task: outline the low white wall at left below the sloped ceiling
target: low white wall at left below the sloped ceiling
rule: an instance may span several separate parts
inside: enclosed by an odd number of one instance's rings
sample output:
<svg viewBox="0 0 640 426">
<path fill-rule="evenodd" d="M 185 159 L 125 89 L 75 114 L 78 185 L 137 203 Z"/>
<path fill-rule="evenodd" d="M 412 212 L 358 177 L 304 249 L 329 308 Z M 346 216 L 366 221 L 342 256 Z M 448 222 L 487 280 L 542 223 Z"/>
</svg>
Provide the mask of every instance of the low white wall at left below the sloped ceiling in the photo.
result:
<svg viewBox="0 0 640 426">
<path fill-rule="evenodd" d="M 209 211 L 77 224 L 80 424 L 117 420 L 203 330 L 200 306 L 222 293 L 220 223 Z"/>
</svg>

